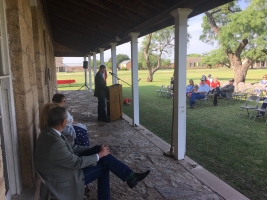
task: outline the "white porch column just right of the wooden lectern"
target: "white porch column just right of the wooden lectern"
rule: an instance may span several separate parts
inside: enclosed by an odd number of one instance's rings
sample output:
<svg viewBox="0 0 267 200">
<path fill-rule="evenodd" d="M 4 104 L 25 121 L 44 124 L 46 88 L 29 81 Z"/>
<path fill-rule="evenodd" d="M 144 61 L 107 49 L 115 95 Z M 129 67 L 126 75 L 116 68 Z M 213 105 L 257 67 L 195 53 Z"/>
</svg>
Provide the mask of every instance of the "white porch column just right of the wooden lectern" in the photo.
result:
<svg viewBox="0 0 267 200">
<path fill-rule="evenodd" d="M 138 32 L 131 32 L 131 64 L 132 64 L 132 109 L 133 126 L 139 126 L 139 88 L 138 88 Z"/>
</svg>

